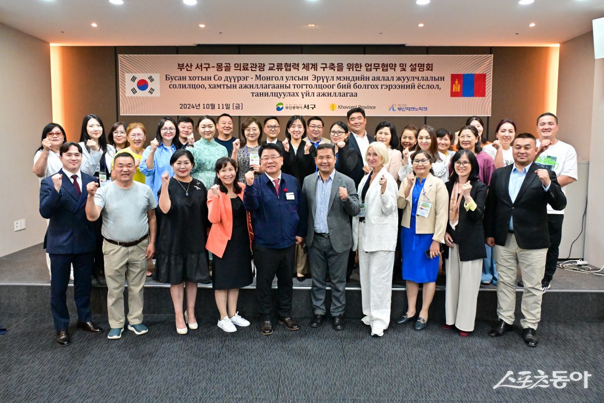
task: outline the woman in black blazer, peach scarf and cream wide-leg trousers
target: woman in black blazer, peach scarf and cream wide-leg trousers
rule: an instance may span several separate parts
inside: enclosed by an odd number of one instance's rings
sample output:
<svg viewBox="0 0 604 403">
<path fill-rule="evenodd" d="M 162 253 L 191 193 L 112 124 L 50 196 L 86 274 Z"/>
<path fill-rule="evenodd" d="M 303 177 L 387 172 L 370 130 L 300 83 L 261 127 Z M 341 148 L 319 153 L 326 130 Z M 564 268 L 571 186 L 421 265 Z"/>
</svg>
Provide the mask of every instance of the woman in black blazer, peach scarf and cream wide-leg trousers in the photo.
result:
<svg viewBox="0 0 604 403">
<path fill-rule="evenodd" d="M 487 186 L 478 180 L 478 161 L 473 152 L 460 150 L 451 164 L 454 171 L 446 184 L 449 221 L 445 243 L 449 247 L 449 257 L 446 260 L 446 324 L 443 329 L 455 326 L 461 337 L 467 337 L 474 330 L 483 257 L 486 256 L 483 213 Z"/>
</svg>

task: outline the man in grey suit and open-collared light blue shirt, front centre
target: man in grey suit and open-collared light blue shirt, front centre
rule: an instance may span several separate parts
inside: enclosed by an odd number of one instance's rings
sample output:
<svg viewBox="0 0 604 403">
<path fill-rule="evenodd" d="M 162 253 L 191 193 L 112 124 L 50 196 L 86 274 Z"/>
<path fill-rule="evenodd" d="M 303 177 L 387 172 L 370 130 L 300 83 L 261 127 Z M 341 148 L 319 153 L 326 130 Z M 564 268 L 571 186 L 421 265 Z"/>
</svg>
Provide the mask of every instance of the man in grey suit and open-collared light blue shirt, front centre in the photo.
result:
<svg viewBox="0 0 604 403">
<path fill-rule="evenodd" d="M 346 304 L 346 268 L 352 248 L 350 216 L 359 214 L 359 196 L 355 182 L 336 172 L 335 150 L 332 144 L 320 144 L 316 149 L 317 173 L 304 178 L 302 192 L 308 201 L 308 234 L 310 273 L 312 274 L 312 308 L 315 312 L 310 326 L 319 327 L 325 317 L 326 277 L 332 285 L 332 325 L 344 329 Z M 310 231 L 314 231 L 314 234 Z"/>
</svg>

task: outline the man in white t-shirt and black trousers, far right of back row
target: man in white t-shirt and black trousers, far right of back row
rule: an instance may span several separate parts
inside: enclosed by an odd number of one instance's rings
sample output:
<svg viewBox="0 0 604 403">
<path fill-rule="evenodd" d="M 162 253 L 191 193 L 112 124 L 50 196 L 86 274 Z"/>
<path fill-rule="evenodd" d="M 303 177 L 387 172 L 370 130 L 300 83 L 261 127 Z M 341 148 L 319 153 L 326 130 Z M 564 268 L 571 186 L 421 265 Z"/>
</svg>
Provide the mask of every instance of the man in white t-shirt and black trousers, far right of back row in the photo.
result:
<svg viewBox="0 0 604 403">
<path fill-rule="evenodd" d="M 556 115 L 546 112 L 537 118 L 537 133 L 539 147 L 536 163 L 553 170 L 562 192 L 565 192 L 565 186 L 579 179 L 577 174 L 577 152 L 574 147 L 564 141 L 557 140 L 558 118 Z M 551 279 L 556 272 L 558 262 L 558 248 L 562 239 L 562 221 L 564 220 L 564 210 L 558 211 L 547 205 L 547 221 L 550 231 L 550 248 L 547 250 L 547 259 L 545 260 L 545 275 L 541 282 L 543 291 L 550 288 Z"/>
</svg>

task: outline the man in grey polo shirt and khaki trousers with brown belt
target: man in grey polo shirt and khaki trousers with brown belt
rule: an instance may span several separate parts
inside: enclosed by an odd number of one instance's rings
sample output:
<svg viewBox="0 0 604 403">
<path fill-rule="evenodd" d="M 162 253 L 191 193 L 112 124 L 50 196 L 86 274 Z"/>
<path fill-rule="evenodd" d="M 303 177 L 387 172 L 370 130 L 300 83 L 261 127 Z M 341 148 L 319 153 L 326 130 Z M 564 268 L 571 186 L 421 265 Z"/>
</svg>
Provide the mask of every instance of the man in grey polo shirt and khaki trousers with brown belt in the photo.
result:
<svg viewBox="0 0 604 403">
<path fill-rule="evenodd" d="M 107 280 L 108 338 L 118 339 L 124 330 L 124 282 L 128 280 L 128 329 L 137 335 L 149 330 L 143 324 L 143 286 L 147 260 L 155 254 L 155 197 L 151 188 L 132 180 L 136 166 L 128 153 L 114 160 L 115 181 L 86 190 L 86 218 L 96 221 L 103 214 L 103 254 Z"/>
</svg>

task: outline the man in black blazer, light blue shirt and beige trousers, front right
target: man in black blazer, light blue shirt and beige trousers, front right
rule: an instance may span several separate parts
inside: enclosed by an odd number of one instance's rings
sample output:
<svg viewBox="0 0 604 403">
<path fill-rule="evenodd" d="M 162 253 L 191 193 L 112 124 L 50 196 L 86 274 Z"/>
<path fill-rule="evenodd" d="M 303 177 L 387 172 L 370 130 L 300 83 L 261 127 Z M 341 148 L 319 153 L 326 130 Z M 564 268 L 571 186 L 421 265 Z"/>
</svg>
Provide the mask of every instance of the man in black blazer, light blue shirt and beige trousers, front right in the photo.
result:
<svg viewBox="0 0 604 403">
<path fill-rule="evenodd" d="M 514 163 L 493 173 L 484 217 L 486 243 L 495 247 L 499 271 L 499 322 L 489 335 L 499 337 L 513 328 L 514 285 L 519 268 L 524 282 L 521 305 L 524 318 L 520 324 L 524 329 L 524 342 L 530 347 L 539 343 L 536 331 L 541 319 L 541 280 L 550 246 L 547 204 L 555 210 L 562 210 L 567 204 L 556 173 L 533 164 L 536 153 L 537 143 L 532 134 L 522 133 L 514 138 Z"/>
</svg>

